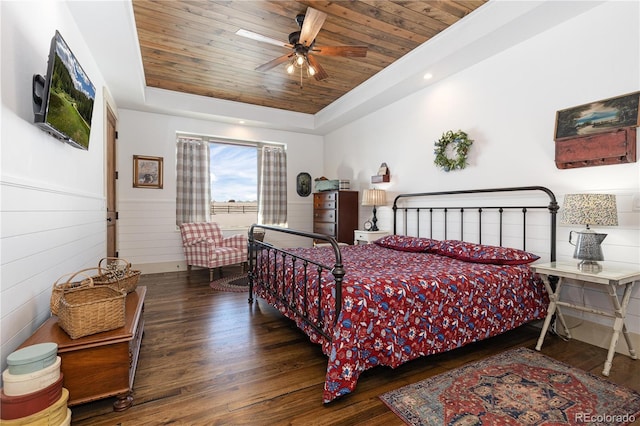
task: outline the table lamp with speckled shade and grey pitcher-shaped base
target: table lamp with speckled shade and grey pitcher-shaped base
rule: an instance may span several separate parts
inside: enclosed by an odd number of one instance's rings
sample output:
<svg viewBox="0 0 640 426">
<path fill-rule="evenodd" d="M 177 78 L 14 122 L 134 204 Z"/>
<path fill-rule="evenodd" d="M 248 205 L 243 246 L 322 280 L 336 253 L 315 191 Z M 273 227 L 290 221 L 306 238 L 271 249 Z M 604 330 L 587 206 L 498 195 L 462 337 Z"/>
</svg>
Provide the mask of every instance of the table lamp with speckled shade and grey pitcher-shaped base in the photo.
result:
<svg viewBox="0 0 640 426">
<path fill-rule="evenodd" d="M 576 248 L 573 258 L 579 259 L 578 269 L 597 272 L 602 269 L 598 260 L 604 260 L 600 243 L 607 234 L 594 232 L 590 225 L 618 226 L 616 196 L 610 194 L 567 194 L 560 210 L 560 223 L 563 225 L 586 225 L 582 231 L 570 231 L 569 243 Z M 572 241 L 573 233 L 577 238 Z"/>
</svg>

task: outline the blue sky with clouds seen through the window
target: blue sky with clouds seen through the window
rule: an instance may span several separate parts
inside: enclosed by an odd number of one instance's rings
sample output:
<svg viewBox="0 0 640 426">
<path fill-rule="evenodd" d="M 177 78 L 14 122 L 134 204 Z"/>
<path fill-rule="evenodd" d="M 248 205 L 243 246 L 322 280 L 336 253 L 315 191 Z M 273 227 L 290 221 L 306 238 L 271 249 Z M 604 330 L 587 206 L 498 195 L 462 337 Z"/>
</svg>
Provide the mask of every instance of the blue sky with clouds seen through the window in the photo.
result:
<svg viewBox="0 0 640 426">
<path fill-rule="evenodd" d="M 258 150 L 256 147 L 209 145 L 211 200 L 257 201 Z"/>
</svg>

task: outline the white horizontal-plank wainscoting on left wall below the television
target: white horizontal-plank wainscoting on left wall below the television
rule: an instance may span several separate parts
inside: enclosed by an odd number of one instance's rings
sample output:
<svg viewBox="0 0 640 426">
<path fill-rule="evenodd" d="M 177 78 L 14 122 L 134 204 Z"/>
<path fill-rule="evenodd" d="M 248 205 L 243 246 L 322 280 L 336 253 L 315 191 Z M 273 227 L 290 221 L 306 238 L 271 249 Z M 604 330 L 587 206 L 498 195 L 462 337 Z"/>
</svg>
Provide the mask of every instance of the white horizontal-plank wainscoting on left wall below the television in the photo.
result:
<svg viewBox="0 0 640 426">
<path fill-rule="evenodd" d="M 4 360 L 50 316 L 53 284 L 96 266 L 106 253 L 102 194 L 45 187 L 3 176 L 0 182 L 0 295 Z"/>
</svg>

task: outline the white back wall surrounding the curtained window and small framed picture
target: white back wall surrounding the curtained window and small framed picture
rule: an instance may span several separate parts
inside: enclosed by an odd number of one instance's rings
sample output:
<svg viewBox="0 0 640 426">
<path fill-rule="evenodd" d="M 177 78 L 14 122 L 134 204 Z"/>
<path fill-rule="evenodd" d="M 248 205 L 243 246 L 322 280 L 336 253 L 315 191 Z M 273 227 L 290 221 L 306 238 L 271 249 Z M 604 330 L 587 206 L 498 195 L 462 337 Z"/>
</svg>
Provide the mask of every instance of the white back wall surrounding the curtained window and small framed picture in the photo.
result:
<svg viewBox="0 0 640 426">
<path fill-rule="evenodd" d="M 180 232 L 175 225 L 176 211 L 176 134 L 194 133 L 226 139 L 284 143 L 287 146 L 289 181 L 288 222 L 294 229 L 311 231 L 313 198 L 296 193 L 295 177 L 308 172 L 319 177 L 323 170 L 322 137 L 302 133 L 248 128 L 162 114 L 120 110 L 118 123 L 118 252 L 143 272 L 182 270 L 186 264 Z M 134 155 L 163 157 L 164 188 L 133 188 Z M 285 239 L 274 241 L 292 246 L 310 244 Z"/>
</svg>

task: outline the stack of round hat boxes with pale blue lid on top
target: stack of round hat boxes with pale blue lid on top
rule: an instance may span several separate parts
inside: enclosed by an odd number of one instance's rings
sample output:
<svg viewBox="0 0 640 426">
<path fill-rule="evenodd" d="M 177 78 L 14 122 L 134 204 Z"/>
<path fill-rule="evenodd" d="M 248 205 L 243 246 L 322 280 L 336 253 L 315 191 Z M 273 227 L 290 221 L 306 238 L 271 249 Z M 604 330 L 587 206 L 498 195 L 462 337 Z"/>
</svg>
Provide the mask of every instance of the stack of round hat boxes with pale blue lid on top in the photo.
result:
<svg viewBox="0 0 640 426">
<path fill-rule="evenodd" d="M 56 343 L 39 343 L 12 352 L 2 372 L 0 419 L 3 425 L 71 424 L 69 391 L 62 387 Z"/>
</svg>

